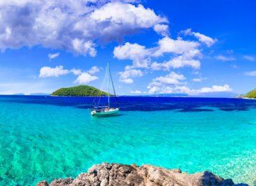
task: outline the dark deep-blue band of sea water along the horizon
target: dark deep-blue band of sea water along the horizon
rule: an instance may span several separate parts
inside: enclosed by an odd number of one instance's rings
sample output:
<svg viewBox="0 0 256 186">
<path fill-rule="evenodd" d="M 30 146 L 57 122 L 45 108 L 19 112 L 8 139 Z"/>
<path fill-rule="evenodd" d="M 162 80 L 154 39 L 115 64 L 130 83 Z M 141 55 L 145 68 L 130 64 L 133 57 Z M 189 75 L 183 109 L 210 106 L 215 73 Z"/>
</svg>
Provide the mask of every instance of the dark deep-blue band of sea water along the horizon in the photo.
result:
<svg viewBox="0 0 256 186">
<path fill-rule="evenodd" d="M 74 108 L 92 108 L 97 102 L 94 97 L 79 96 L 0 96 L 1 101 L 15 103 L 35 103 L 58 106 L 72 106 Z M 101 99 L 106 103 L 106 98 Z M 115 102 L 118 101 L 118 104 Z M 223 111 L 249 110 L 256 108 L 256 101 L 250 99 L 229 98 L 193 98 L 193 97 L 150 97 L 150 96 L 118 96 L 111 98 L 113 106 L 123 111 L 158 111 L 179 110 L 178 112 L 214 111 L 201 107 L 209 106 Z"/>
</svg>

